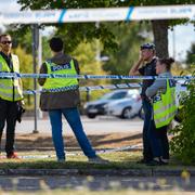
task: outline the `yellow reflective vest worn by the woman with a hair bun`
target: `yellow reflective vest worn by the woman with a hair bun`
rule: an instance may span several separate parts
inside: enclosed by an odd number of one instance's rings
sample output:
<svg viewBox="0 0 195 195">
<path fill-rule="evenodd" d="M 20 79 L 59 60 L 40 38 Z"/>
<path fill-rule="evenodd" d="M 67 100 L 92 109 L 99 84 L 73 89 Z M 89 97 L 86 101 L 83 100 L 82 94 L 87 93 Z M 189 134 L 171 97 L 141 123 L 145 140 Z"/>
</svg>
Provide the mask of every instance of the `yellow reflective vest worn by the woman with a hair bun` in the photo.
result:
<svg viewBox="0 0 195 195">
<path fill-rule="evenodd" d="M 156 101 L 153 102 L 154 121 L 156 128 L 160 128 L 169 125 L 177 113 L 176 87 L 170 87 L 167 79 L 166 93 L 159 93 L 155 99 Z"/>
</svg>

